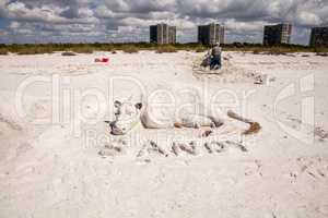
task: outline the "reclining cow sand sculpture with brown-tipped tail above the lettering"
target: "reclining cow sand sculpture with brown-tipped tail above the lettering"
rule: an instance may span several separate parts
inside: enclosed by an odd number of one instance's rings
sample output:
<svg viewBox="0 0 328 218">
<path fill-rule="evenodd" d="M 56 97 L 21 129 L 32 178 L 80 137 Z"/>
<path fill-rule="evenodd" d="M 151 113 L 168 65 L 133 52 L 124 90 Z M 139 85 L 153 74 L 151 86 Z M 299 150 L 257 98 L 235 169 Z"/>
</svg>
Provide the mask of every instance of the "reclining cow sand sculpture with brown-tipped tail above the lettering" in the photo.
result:
<svg viewBox="0 0 328 218">
<path fill-rule="evenodd" d="M 175 108 L 154 108 L 148 104 L 133 104 L 131 99 L 126 101 L 116 100 L 114 106 L 115 120 L 108 122 L 113 135 L 125 135 L 139 123 L 145 129 L 198 129 L 201 126 L 220 128 L 226 122 L 223 116 L 218 116 L 203 106 L 197 112 L 183 110 L 183 114 L 176 113 Z M 243 134 L 255 134 L 261 129 L 258 122 L 243 118 L 231 110 L 227 111 L 226 116 L 249 124 L 248 130 L 245 130 Z"/>
</svg>

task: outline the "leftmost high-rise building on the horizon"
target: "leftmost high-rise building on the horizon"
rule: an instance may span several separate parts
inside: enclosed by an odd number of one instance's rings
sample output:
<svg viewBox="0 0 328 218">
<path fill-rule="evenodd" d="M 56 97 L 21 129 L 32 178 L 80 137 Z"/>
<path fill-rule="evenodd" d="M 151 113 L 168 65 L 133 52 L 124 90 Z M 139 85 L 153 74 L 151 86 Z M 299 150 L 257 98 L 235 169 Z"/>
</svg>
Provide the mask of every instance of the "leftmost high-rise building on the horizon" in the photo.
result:
<svg viewBox="0 0 328 218">
<path fill-rule="evenodd" d="M 164 23 L 150 26 L 150 43 L 160 45 L 175 44 L 176 27 Z"/>
</svg>

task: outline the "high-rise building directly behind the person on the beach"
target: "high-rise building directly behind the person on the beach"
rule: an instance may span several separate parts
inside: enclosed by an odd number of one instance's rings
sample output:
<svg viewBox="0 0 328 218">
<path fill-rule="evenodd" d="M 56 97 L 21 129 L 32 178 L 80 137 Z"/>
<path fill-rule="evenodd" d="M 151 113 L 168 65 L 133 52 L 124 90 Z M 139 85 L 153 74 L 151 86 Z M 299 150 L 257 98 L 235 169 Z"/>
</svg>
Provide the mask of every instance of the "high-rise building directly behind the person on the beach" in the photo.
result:
<svg viewBox="0 0 328 218">
<path fill-rule="evenodd" d="M 224 44 L 224 26 L 214 23 L 198 26 L 198 43 L 203 45 Z"/>
</svg>

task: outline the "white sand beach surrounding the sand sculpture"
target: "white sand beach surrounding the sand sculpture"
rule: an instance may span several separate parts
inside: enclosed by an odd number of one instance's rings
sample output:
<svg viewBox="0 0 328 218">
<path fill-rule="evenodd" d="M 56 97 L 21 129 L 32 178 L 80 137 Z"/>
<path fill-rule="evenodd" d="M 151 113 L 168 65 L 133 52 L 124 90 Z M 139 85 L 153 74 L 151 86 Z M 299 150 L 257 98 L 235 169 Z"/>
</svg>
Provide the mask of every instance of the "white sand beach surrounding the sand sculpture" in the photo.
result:
<svg viewBox="0 0 328 218">
<path fill-rule="evenodd" d="M 196 76 L 203 55 L 0 56 L 0 217 L 328 217 L 328 58 L 224 52 L 230 69 Z M 114 100 L 156 92 L 197 93 L 261 130 L 226 118 L 208 137 L 110 135 Z"/>
</svg>

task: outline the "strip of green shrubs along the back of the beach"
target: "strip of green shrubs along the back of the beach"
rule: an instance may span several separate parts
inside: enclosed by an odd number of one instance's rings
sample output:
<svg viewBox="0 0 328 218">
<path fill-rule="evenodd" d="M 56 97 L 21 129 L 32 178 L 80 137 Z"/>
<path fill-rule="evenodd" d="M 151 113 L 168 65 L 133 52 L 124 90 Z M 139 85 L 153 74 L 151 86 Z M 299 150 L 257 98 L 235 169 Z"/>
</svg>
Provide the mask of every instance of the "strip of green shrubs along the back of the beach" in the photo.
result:
<svg viewBox="0 0 328 218">
<path fill-rule="evenodd" d="M 139 50 L 154 50 L 159 53 L 176 52 L 178 50 L 190 50 L 196 52 L 203 52 L 207 46 L 190 43 L 190 44 L 174 44 L 159 46 L 149 43 L 137 44 L 40 44 L 40 45 L 0 45 L 0 52 L 13 52 L 20 55 L 36 55 L 36 53 L 51 53 L 54 51 L 72 51 L 75 53 L 92 53 L 93 51 L 115 51 L 122 50 L 128 53 L 136 53 Z M 261 44 L 225 44 L 222 45 L 224 51 L 244 51 L 253 53 L 267 55 L 284 55 L 291 52 L 328 52 L 328 47 L 307 47 L 301 45 L 280 45 L 277 47 L 267 47 Z"/>
</svg>

